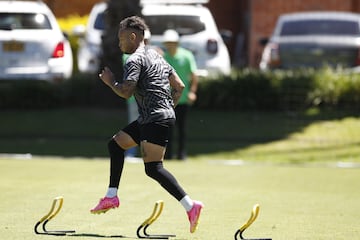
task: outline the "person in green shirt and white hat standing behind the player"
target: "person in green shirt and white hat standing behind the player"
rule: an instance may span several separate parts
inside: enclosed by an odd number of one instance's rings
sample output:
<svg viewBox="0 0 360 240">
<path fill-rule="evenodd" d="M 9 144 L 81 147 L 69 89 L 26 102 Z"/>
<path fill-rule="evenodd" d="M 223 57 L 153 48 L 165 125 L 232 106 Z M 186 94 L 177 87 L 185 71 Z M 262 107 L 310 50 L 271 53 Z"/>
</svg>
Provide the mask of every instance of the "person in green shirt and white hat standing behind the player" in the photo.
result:
<svg viewBox="0 0 360 240">
<path fill-rule="evenodd" d="M 195 74 L 197 70 L 195 57 L 189 50 L 179 46 L 179 34 L 172 29 L 164 33 L 165 60 L 176 70 L 180 79 L 185 84 L 185 89 L 180 97 L 179 103 L 175 108 L 176 126 L 178 130 L 178 149 L 177 159 L 186 159 L 186 120 L 189 107 L 196 100 L 198 78 Z M 169 143 L 166 149 L 165 159 L 173 157 L 172 139 L 174 135 L 173 127 L 170 129 Z"/>
</svg>

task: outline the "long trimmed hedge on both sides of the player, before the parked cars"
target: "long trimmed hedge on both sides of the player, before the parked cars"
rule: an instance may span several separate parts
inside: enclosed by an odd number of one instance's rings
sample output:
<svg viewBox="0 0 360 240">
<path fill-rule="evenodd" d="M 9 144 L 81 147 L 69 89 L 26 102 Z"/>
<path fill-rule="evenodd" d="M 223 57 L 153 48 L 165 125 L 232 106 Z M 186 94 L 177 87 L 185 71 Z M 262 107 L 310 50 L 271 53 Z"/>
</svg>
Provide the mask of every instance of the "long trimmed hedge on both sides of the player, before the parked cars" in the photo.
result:
<svg viewBox="0 0 360 240">
<path fill-rule="evenodd" d="M 59 84 L 0 81 L 0 108 L 125 108 L 96 76 L 76 74 Z M 310 107 L 360 108 L 360 74 L 320 71 L 233 71 L 231 76 L 201 79 L 196 108 L 212 110 L 304 110 Z"/>
</svg>

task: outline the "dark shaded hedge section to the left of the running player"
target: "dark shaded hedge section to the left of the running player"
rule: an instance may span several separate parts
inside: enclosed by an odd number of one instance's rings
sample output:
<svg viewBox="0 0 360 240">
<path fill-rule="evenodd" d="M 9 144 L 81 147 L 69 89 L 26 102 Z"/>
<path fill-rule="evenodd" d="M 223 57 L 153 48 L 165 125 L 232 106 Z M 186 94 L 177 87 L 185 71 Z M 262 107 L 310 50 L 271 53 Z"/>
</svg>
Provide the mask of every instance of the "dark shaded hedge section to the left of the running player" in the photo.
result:
<svg viewBox="0 0 360 240">
<path fill-rule="evenodd" d="M 0 108 L 125 107 L 95 75 L 76 74 L 62 83 L 12 80 L 0 81 Z"/>
</svg>

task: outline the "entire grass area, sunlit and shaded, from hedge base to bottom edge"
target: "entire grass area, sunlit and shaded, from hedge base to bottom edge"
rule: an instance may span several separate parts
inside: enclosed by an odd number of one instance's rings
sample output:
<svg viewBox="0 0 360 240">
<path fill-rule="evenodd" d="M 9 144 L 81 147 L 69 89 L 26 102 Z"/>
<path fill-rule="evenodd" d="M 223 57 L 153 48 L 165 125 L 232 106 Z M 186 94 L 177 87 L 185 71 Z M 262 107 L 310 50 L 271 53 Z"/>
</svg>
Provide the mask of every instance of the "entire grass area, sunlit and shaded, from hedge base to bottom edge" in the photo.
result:
<svg viewBox="0 0 360 240">
<path fill-rule="evenodd" d="M 146 177 L 141 163 L 126 163 L 119 209 L 89 213 L 108 183 L 107 139 L 125 124 L 126 113 L 112 109 L 2 111 L 0 238 L 56 238 L 35 235 L 33 227 L 59 195 L 64 206 L 48 228 L 77 231 L 60 239 L 135 239 L 159 199 L 165 209 L 149 232 L 175 239 L 233 239 L 256 203 L 260 214 L 247 238 L 360 236 L 358 114 L 192 111 L 189 160 L 166 167 L 205 203 L 195 234 L 180 204 Z"/>
</svg>

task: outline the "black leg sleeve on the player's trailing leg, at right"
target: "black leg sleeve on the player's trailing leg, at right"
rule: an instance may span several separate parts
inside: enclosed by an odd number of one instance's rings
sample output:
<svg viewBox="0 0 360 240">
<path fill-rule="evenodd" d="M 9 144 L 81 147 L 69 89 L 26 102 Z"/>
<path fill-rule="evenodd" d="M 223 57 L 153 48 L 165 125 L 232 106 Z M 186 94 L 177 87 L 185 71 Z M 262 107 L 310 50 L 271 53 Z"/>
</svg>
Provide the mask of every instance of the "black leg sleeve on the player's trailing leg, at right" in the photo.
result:
<svg viewBox="0 0 360 240">
<path fill-rule="evenodd" d="M 186 196 L 175 177 L 168 172 L 161 161 L 145 163 L 146 175 L 156 180 L 160 185 L 178 201 Z"/>
</svg>

